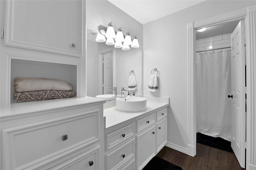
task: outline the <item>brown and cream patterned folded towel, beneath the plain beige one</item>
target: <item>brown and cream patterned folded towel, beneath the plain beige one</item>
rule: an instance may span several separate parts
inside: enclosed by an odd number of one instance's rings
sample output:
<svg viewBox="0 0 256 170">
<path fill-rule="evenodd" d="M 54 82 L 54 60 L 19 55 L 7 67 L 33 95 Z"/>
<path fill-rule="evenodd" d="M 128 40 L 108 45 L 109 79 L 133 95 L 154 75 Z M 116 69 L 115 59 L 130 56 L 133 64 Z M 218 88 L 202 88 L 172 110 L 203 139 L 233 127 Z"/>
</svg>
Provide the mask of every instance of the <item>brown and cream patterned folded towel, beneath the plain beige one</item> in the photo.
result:
<svg viewBox="0 0 256 170">
<path fill-rule="evenodd" d="M 49 99 L 70 98 L 76 96 L 74 91 L 41 90 L 33 92 L 14 92 L 14 102 L 32 102 Z"/>
</svg>

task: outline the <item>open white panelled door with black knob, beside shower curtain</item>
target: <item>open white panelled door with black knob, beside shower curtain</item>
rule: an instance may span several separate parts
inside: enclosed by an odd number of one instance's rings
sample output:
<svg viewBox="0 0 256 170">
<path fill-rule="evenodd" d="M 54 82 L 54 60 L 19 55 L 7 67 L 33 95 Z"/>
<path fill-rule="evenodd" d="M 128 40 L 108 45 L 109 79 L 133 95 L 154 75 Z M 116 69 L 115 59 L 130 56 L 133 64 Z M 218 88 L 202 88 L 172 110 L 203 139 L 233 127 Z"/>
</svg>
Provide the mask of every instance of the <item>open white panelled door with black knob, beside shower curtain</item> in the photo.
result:
<svg viewBox="0 0 256 170">
<path fill-rule="evenodd" d="M 245 167 L 246 113 L 245 113 L 245 54 L 244 22 L 240 21 L 231 34 L 232 60 L 232 136 L 231 147 L 242 168 Z"/>
</svg>

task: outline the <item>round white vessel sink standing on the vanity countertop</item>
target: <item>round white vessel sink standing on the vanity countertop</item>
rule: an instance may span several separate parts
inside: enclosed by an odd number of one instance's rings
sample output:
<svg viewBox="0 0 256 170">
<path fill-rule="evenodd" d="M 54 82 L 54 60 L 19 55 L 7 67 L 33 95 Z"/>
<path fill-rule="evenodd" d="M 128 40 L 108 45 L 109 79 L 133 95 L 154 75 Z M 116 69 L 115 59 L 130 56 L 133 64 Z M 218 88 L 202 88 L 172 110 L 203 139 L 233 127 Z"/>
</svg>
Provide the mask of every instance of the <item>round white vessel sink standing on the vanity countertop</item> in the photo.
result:
<svg viewBox="0 0 256 170">
<path fill-rule="evenodd" d="M 116 109 L 135 112 L 147 109 L 147 99 L 142 97 L 116 98 Z"/>
</svg>

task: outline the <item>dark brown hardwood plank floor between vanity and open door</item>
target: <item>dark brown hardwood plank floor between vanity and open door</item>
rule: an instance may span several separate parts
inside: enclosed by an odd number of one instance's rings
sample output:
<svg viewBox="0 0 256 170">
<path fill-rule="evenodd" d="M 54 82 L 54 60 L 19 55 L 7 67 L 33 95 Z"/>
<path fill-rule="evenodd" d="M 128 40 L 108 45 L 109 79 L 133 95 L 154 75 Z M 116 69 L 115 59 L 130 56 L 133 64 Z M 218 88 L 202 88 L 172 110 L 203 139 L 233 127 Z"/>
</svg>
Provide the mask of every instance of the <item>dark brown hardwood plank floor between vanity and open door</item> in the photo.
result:
<svg viewBox="0 0 256 170">
<path fill-rule="evenodd" d="M 164 147 L 156 156 L 183 170 L 245 170 L 240 167 L 234 153 L 200 143 L 197 143 L 194 157 L 168 147 Z"/>
</svg>

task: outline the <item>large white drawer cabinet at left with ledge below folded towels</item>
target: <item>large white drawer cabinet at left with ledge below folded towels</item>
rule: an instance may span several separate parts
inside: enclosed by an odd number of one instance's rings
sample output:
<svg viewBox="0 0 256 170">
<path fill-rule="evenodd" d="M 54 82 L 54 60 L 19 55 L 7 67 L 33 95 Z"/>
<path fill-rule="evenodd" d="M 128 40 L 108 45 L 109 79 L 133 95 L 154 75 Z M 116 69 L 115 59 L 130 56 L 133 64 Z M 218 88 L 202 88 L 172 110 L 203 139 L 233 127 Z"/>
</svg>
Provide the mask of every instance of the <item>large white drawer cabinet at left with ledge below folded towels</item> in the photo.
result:
<svg viewBox="0 0 256 170">
<path fill-rule="evenodd" d="M 1 169 L 102 169 L 104 102 L 85 97 L 1 107 L 10 112 L 1 115 Z"/>
</svg>

